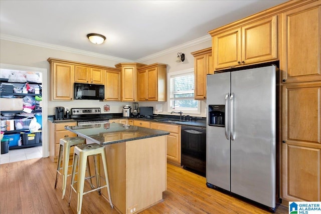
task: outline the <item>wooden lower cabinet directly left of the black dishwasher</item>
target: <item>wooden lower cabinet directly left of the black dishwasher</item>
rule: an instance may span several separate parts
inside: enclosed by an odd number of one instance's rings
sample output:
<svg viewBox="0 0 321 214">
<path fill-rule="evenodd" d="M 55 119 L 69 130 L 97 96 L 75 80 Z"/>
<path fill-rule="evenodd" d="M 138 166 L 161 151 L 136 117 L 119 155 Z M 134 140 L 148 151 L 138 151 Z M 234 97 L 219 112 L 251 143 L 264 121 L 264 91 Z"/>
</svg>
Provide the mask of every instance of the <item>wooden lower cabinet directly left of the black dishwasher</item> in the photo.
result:
<svg viewBox="0 0 321 214">
<path fill-rule="evenodd" d="M 167 161 L 181 165 L 181 126 L 164 123 L 150 123 L 150 128 L 169 131 L 167 137 Z"/>
</svg>

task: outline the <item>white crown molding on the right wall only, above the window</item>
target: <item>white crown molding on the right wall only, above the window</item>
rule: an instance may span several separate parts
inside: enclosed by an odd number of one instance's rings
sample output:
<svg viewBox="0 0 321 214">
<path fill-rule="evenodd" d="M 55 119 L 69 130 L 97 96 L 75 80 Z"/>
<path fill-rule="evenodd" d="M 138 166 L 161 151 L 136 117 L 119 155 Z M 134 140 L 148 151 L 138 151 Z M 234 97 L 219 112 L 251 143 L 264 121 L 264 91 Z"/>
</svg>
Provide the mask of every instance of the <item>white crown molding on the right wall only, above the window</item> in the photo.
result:
<svg viewBox="0 0 321 214">
<path fill-rule="evenodd" d="M 194 46 L 194 45 L 197 45 L 197 44 L 200 44 L 200 43 L 203 43 L 203 42 L 207 42 L 207 41 L 210 41 L 210 40 L 212 40 L 212 37 L 210 35 L 206 35 L 204 37 L 200 37 L 200 38 L 192 40 L 190 42 L 183 43 L 183 44 L 178 45 L 178 46 L 174 46 L 173 48 L 169 48 L 169 49 L 166 49 L 164 51 L 160 51 L 160 52 L 157 52 L 155 54 L 151 54 L 149 56 L 140 58 L 140 59 L 136 60 L 136 62 L 140 63 L 140 62 L 144 62 L 146 60 L 154 59 L 156 57 L 161 57 L 161 56 L 164 56 L 166 54 L 177 52 L 177 51 L 180 51 L 180 50 L 182 50 L 184 48 L 189 48 L 191 46 Z"/>
</svg>

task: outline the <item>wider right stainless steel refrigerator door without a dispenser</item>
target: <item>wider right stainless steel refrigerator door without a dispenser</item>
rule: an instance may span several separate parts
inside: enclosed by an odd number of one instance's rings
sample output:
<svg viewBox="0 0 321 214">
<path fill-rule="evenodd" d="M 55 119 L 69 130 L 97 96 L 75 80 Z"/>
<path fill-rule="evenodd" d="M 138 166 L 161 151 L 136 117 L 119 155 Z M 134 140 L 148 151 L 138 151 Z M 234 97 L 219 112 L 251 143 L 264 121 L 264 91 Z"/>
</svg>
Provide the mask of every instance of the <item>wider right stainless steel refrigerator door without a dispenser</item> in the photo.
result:
<svg viewBox="0 0 321 214">
<path fill-rule="evenodd" d="M 275 78 L 275 66 L 231 73 L 231 192 L 269 207 L 275 207 Z"/>
</svg>

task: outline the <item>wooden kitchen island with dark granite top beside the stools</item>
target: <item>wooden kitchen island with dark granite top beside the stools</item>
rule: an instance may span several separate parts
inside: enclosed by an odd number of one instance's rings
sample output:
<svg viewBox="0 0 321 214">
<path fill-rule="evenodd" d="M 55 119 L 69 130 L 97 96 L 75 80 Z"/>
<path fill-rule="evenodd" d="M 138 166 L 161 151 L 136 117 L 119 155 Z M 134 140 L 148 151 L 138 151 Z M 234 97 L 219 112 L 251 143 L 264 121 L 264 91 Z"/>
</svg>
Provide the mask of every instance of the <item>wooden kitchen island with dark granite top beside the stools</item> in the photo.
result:
<svg viewBox="0 0 321 214">
<path fill-rule="evenodd" d="M 119 123 L 66 126 L 65 129 L 86 138 L 87 143 L 105 146 L 111 200 L 118 212 L 135 213 L 163 200 L 169 132 Z M 102 165 L 100 167 L 103 171 Z M 101 193 L 108 198 L 105 188 Z"/>
</svg>

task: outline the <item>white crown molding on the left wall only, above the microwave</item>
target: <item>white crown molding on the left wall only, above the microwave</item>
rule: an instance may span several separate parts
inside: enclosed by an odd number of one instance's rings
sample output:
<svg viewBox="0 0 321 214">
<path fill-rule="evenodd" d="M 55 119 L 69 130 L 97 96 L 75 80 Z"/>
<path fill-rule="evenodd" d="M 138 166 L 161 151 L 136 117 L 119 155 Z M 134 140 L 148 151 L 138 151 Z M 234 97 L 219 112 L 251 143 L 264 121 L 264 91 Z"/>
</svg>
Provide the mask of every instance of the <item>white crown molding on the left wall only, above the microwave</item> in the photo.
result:
<svg viewBox="0 0 321 214">
<path fill-rule="evenodd" d="M 117 61 L 117 62 L 134 62 L 132 60 L 127 60 L 127 59 L 123 59 L 123 58 L 112 57 L 112 56 L 108 56 L 108 55 L 104 55 L 104 54 L 97 54 L 97 53 L 93 53 L 93 52 L 89 52 L 89 51 L 82 51 L 79 49 L 68 48 L 68 47 L 59 46 L 59 45 L 53 45 L 53 44 L 49 44 L 49 43 L 43 43 L 43 42 L 39 42 L 39 41 L 35 41 L 35 40 L 28 40 L 28 39 L 14 37 L 14 36 L 6 35 L 6 34 L 0 34 L 0 39 L 1 40 L 8 40 L 11 42 L 23 43 L 23 44 L 27 44 L 27 45 L 39 46 L 42 48 L 50 48 L 50 49 L 54 49 L 54 50 L 58 50 L 58 51 L 66 51 L 69 53 L 81 54 L 81 55 L 90 56 L 90 57 L 97 57 L 97 58 L 102 58 L 102 59 L 106 59 L 106 60 L 113 60 L 113 61 Z"/>
</svg>

